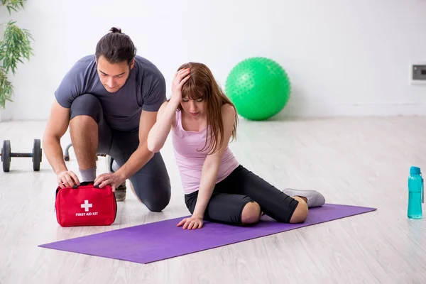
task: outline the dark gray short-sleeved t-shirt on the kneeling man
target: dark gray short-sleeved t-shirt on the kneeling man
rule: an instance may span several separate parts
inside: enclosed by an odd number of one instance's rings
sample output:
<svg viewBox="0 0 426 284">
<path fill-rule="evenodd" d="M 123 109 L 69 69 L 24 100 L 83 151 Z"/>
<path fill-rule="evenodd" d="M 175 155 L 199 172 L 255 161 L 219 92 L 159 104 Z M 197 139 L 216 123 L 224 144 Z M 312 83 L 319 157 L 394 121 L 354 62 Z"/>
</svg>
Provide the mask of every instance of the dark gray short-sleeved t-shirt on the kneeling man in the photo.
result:
<svg viewBox="0 0 426 284">
<path fill-rule="evenodd" d="M 165 102 L 165 80 L 152 62 L 136 55 L 134 67 L 119 91 L 110 93 L 99 80 L 94 55 L 81 58 L 67 72 L 55 97 L 62 107 L 70 108 L 82 94 L 92 94 L 102 104 L 104 119 L 112 129 L 138 129 L 141 111 L 158 111 Z"/>
</svg>

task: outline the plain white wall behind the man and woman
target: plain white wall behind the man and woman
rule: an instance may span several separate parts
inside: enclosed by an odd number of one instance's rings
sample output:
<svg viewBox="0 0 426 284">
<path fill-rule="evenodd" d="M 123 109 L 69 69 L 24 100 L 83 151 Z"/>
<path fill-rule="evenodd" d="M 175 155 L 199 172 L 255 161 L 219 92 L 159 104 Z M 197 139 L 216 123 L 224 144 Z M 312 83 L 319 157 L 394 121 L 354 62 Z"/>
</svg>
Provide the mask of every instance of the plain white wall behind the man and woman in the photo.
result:
<svg viewBox="0 0 426 284">
<path fill-rule="evenodd" d="M 11 119 L 47 119 L 62 76 L 94 53 L 111 26 L 158 65 L 168 96 L 182 62 L 206 63 L 224 86 L 237 62 L 265 56 L 283 65 L 293 84 L 280 116 L 426 113 L 426 86 L 408 81 L 410 62 L 426 61 L 425 0 L 118 3 L 29 0 L 13 13 L 33 33 L 35 55 L 13 77 Z M 0 18 L 9 19 L 2 10 Z"/>
</svg>

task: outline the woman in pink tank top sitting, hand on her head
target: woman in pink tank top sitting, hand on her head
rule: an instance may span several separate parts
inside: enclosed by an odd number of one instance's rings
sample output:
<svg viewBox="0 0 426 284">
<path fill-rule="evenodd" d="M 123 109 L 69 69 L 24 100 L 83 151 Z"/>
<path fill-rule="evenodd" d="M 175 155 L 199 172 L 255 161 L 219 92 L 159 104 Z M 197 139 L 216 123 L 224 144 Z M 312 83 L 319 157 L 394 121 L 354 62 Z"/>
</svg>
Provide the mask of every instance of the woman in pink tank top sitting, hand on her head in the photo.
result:
<svg viewBox="0 0 426 284">
<path fill-rule="evenodd" d="M 315 190 L 282 192 L 239 165 L 228 147 L 236 125 L 234 104 L 209 68 L 195 62 L 180 66 L 172 96 L 160 107 L 148 134 L 148 149 L 155 153 L 173 133 L 185 203 L 192 214 L 178 226 L 201 228 L 203 219 L 253 224 L 263 213 L 278 222 L 304 222 L 308 207 L 322 206 L 324 197 Z"/>
</svg>

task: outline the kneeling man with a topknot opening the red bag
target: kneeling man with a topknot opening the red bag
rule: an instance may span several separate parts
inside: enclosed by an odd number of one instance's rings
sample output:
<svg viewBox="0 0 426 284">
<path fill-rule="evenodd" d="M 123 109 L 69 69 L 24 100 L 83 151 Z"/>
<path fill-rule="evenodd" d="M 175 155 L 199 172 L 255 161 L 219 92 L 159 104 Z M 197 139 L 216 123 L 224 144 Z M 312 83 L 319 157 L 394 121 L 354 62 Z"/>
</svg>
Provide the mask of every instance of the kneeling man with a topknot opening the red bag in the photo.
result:
<svg viewBox="0 0 426 284">
<path fill-rule="evenodd" d="M 153 212 L 170 201 L 170 179 L 160 153 L 148 151 L 148 132 L 165 101 L 165 80 L 152 62 L 136 55 L 128 35 L 118 28 L 97 43 L 95 55 L 78 60 L 55 92 L 43 151 L 60 187 L 79 185 L 67 170 L 60 138 L 70 126 L 82 181 L 111 185 L 117 201 L 126 198 L 126 180 L 140 202 Z M 96 154 L 116 166 L 97 176 Z"/>
</svg>

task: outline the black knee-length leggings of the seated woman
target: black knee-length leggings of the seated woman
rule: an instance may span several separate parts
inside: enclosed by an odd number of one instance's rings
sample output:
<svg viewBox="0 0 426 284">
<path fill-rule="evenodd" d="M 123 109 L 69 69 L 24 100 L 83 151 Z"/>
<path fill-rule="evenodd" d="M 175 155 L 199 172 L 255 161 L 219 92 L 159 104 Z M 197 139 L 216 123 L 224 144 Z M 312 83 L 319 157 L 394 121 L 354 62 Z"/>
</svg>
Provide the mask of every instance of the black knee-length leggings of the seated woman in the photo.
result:
<svg viewBox="0 0 426 284">
<path fill-rule="evenodd" d="M 185 195 L 185 203 L 194 213 L 198 191 Z M 249 202 L 257 202 L 262 212 L 278 222 L 288 223 L 299 202 L 239 165 L 218 182 L 204 212 L 204 219 L 241 225 L 241 214 Z"/>
</svg>

